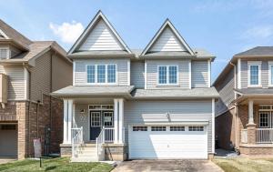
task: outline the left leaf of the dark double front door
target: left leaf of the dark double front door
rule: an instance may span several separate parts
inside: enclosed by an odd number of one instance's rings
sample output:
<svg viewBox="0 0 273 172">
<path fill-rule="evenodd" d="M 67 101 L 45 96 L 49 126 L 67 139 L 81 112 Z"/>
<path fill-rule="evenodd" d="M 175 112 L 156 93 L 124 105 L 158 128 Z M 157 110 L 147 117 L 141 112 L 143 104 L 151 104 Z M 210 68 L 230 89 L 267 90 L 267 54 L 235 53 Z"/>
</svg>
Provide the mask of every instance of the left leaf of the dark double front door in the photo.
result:
<svg viewBox="0 0 273 172">
<path fill-rule="evenodd" d="M 102 127 L 101 111 L 90 111 L 90 140 L 96 140 Z"/>
</svg>

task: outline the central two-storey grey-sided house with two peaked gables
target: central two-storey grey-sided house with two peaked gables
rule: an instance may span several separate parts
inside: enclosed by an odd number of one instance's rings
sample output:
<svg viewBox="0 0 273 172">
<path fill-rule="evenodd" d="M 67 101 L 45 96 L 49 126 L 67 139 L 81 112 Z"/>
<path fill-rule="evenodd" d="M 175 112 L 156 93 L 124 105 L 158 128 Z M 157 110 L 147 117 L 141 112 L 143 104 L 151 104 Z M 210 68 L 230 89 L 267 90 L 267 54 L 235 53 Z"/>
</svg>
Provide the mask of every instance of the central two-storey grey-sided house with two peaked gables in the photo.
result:
<svg viewBox="0 0 273 172">
<path fill-rule="evenodd" d="M 131 50 L 99 11 L 68 57 L 73 86 L 52 94 L 65 106 L 62 156 L 213 157 L 215 56 L 188 46 L 168 19 L 145 49 Z"/>
</svg>

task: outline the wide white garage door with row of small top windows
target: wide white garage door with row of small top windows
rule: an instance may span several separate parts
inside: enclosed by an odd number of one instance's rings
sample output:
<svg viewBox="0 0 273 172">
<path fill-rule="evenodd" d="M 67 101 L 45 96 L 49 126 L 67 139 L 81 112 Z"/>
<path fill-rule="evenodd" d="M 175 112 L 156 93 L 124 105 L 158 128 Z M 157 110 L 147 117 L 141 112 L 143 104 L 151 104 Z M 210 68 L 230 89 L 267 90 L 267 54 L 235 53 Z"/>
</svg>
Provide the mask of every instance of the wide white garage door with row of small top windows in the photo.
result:
<svg viewBox="0 0 273 172">
<path fill-rule="evenodd" d="M 207 159 L 206 126 L 130 126 L 129 158 Z"/>
</svg>

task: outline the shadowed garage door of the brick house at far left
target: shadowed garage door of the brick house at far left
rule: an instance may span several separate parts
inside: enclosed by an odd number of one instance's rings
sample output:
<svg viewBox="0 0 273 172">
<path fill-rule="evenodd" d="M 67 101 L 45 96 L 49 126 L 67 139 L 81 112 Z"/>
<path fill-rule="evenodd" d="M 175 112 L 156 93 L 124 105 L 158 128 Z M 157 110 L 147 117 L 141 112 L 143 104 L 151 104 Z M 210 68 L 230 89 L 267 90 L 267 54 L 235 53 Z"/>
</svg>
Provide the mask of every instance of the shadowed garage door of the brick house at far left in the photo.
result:
<svg viewBox="0 0 273 172">
<path fill-rule="evenodd" d="M 0 124 L 0 157 L 17 157 L 17 125 Z"/>
</svg>

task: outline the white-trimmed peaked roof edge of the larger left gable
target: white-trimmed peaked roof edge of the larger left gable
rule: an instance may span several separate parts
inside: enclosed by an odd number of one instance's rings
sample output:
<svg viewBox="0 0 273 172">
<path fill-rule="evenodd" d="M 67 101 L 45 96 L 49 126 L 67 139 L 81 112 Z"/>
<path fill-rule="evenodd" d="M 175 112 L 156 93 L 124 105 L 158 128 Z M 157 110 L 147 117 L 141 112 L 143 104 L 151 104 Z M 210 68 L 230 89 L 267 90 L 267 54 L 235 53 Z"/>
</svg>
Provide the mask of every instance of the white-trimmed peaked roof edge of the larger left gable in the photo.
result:
<svg viewBox="0 0 273 172">
<path fill-rule="evenodd" d="M 76 48 L 79 48 L 79 46 L 82 46 L 84 44 L 87 36 L 90 35 L 90 33 L 93 31 L 93 29 L 96 28 L 98 24 L 106 25 L 107 28 L 109 28 L 110 32 L 113 33 L 113 35 L 115 36 L 118 43 L 124 48 L 126 53 L 129 53 L 129 54 L 132 53 L 131 50 L 128 48 L 128 46 L 126 46 L 125 42 L 122 40 L 120 35 L 117 34 L 113 25 L 110 24 L 110 22 L 107 20 L 106 16 L 102 13 L 102 11 L 99 10 L 97 14 L 95 15 L 95 17 L 92 19 L 92 21 L 89 23 L 89 25 L 87 25 L 86 30 L 82 33 L 82 35 L 78 37 L 78 39 L 76 40 L 76 43 L 68 51 L 68 55 L 73 54 L 76 51 Z"/>
</svg>

